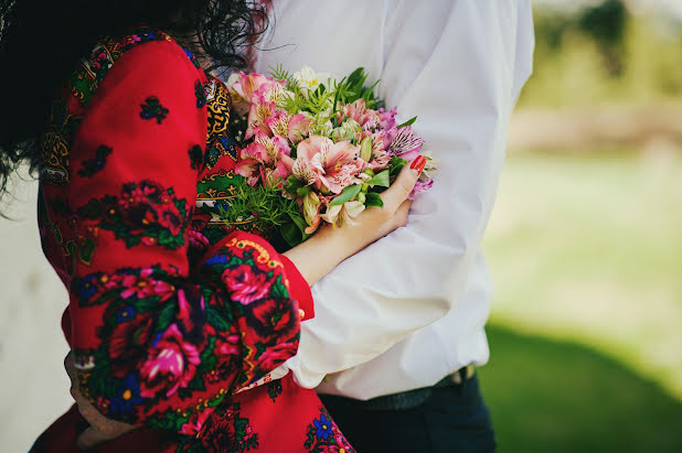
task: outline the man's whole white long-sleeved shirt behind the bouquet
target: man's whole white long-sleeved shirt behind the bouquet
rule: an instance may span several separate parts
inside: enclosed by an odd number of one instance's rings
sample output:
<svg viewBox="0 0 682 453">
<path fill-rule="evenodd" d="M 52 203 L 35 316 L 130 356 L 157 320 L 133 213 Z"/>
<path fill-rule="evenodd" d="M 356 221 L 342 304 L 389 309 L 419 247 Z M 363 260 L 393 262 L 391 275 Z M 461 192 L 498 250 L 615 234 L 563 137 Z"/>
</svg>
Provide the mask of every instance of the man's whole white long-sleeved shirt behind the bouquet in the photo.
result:
<svg viewBox="0 0 682 453">
<path fill-rule="evenodd" d="M 531 74 L 530 0 L 275 0 L 255 68 L 363 66 L 439 163 L 408 225 L 315 284 L 286 367 L 303 387 L 369 399 L 434 385 L 489 350 L 481 237 L 516 97 Z M 341 371 L 341 373 L 338 373 Z"/>
</svg>

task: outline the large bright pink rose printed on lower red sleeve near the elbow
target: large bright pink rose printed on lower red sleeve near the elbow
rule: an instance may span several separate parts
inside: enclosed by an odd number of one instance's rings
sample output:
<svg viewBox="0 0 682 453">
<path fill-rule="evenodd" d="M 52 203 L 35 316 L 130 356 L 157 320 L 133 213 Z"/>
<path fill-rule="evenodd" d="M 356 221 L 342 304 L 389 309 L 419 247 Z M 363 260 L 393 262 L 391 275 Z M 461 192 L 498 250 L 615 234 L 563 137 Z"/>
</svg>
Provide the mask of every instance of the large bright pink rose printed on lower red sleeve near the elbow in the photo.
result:
<svg viewBox="0 0 682 453">
<path fill-rule="evenodd" d="M 166 397 L 171 397 L 190 384 L 200 362 L 196 347 L 182 338 L 177 324 L 171 324 L 140 369 L 140 395 L 156 398 L 164 391 Z"/>
</svg>

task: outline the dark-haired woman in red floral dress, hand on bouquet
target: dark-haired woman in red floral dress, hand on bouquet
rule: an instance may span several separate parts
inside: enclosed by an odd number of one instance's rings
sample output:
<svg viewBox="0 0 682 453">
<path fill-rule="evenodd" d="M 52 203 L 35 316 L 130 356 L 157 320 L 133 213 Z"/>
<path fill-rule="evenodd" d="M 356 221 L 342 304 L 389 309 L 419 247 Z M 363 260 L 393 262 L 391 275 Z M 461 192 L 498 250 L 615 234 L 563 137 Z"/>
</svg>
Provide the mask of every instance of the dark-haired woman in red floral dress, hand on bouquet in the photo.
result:
<svg viewBox="0 0 682 453">
<path fill-rule="evenodd" d="M 228 181 L 235 160 L 206 62 L 242 66 L 262 12 L 54 3 L 0 3 L 0 186 L 22 161 L 39 170 L 41 240 L 70 293 L 77 407 L 33 450 L 349 451 L 315 391 L 290 377 L 258 384 L 296 353 L 309 285 L 405 224 L 418 163 L 359 226 L 284 255 L 226 231 L 194 209 L 230 196 L 210 183 Z"/>
</svg>

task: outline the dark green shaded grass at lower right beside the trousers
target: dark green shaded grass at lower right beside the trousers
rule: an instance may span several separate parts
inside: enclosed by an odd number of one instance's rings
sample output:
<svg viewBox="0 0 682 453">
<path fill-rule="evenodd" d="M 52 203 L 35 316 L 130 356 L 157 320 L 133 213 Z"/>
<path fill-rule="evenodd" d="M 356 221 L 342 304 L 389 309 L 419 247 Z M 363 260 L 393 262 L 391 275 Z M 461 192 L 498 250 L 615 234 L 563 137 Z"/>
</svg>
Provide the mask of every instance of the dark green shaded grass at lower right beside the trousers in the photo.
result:
<svg viewBox="0 0 682 453">
<path fill-rule="evenodd" d="M 489 328 L 500 452 L 680 452 L 682 403 L 593 348 Z"/>
</svg>

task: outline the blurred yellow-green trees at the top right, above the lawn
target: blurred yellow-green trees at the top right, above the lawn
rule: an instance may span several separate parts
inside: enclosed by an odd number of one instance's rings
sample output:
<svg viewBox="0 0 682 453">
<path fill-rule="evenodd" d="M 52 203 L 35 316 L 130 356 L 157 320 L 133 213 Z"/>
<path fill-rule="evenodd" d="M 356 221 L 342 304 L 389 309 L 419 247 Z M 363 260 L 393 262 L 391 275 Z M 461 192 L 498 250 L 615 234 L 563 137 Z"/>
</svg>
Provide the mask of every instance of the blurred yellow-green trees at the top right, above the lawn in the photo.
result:
<svg viewBox="0 0 682 453">
<path fill-rule="evenodd" d="M 682 25 L 606 0 L 575 12 L 536 7 L 533 75 L 520 106 L 594 106 L 682 97 Z"/>
</svg>

